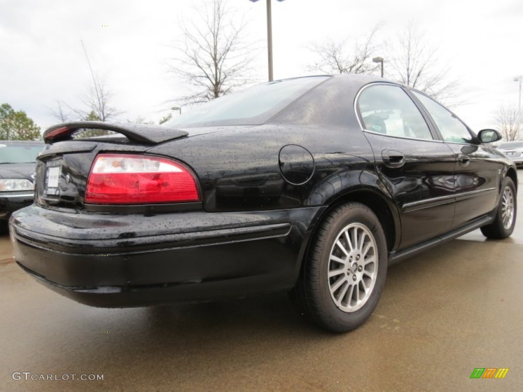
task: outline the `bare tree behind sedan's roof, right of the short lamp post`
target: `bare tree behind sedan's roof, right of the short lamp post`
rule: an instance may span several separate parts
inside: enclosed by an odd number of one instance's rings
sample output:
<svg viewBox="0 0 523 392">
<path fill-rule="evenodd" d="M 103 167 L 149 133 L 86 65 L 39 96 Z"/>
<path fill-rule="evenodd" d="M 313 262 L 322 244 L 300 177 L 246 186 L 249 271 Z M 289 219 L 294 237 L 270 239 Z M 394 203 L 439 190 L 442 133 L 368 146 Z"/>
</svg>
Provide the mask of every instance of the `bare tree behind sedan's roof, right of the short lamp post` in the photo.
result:
<svg viewBox="0 0 523 392">
<path fill-rule="evenodd" d="M 459 80 L 448 78 L 449 67 L 440 64 L 439 51 L 411 22 L 389 42 L 385 67 L 397 82 L 414 87 L 447 105 L 458 105 Z"/>
</svg>

